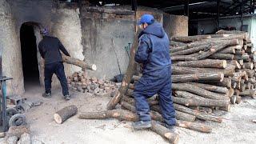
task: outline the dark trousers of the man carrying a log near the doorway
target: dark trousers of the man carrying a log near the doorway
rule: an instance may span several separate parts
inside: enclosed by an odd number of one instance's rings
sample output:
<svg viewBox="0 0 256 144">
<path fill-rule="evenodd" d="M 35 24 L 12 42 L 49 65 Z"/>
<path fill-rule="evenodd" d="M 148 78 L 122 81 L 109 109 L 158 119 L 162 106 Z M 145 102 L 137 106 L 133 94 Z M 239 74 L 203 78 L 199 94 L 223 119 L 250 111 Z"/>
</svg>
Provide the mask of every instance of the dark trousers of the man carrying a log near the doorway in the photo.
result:
<svg viewBox="0 0 256 144">
<path fill-rule="evenodd" d="M 56 74 L 58 77 L 59 82 L 62 85 L 62 94 L 65 96 L 69 94 L 67 82 L 66 82 L 66 75 L 64 71 L 64 66 L 62 62 L 54 62 L 45 65 L 45 88 L 46 93 L 51 93 L 51 78 L 53 74 Z"/>
</svg>

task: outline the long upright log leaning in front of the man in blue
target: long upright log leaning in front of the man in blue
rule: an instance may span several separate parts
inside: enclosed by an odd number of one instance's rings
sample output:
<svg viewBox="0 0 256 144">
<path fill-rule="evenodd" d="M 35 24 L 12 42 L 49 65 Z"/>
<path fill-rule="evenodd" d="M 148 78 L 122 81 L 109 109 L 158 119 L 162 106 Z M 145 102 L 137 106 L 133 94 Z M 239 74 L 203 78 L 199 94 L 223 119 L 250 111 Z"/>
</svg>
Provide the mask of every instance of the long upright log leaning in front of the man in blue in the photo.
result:
<svg viewBox="0 0 256 144">
<path fill-rule="evenodd" d="M 118 91 L 115 93 L 114 97 L 110 99 L 110 102 L 106 105 L 106 110 L 113 110 L 115 106 L 117 106 L 118 102 L 122 99 L 122 96 L 125 94 L 129 83 L 131 81 L 131 78 L 134 74 L 135 70 L 135 53 L 138 49 L 138 31 L 136 32 L 134 36 L 134 42 L 130 50 L 130 61 L 129 65 L 126 70 L 126 74 L 124 75 L 124 78 L 122 79 L 122 84 L 119 87 Z"/>
</svg>

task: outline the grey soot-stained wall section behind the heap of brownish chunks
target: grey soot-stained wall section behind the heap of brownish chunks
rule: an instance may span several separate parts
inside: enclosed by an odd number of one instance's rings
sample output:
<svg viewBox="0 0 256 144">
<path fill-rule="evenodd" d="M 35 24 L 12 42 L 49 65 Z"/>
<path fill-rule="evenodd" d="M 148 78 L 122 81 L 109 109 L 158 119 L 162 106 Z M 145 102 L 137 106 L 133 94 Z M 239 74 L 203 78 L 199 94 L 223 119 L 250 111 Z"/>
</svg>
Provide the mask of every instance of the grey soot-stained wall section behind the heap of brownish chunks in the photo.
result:
<svg viewBox="0 0 256 144">
<path fill-rule="evenodd" d="M 104 9 L 104 8 L 103 8 Z M 85 61 L 97 65 L 91 76 L 113 78 L 126 72 L 129 57 L 125 50 L 134 38 L 134 15 L 117 15 L 81 9 L 82 45 Z"/>
</svg>

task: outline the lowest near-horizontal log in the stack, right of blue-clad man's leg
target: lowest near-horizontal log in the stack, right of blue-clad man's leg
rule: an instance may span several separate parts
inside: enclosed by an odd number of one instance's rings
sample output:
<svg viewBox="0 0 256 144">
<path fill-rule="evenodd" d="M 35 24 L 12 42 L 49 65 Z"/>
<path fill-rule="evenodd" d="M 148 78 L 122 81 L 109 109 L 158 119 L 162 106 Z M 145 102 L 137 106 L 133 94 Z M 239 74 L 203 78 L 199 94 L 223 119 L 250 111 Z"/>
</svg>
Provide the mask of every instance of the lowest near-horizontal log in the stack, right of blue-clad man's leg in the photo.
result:
<svg viewBox="0 0 256 144">
<path fill-rule="evenodd" d="M 228 100 L 214 100 L 214 99 L 187 99 L 187 98 L 178 98 L 173 97 L 174 103 L 183 105 L 183 106 L 219 106 L 225 107 L 228 106 L 230 101 Z"/>
</svg>

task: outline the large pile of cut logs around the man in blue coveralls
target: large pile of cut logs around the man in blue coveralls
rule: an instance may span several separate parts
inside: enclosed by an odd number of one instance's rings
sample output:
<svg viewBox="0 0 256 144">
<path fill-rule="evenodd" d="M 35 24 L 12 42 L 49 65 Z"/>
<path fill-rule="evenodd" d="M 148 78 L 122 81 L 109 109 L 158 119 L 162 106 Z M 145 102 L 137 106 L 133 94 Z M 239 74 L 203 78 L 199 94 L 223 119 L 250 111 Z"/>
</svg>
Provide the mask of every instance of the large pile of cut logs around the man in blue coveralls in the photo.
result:
<svg viewBox="0 0 256 144">
<path fill-rule="evenodd" d="M 136 39 L 136 36 L 135 36 Z M 254 98 L 256 87 L 253 45 L 246 33 L 220 30 L 216 34 L 171 38 L 172 90 L 176 126 L 210 133 L 211 127 L 201 121 L 222 122 L 213 110 L 230 110 L 230 105 L 241 102 L 241 97 Z M 106 106 L 106 111 L 80 114 L 79 118 L 137 121 L 133 90 L 138 74 L 134 53 L 117 93 Z M 134 75 L 136 74 L 136 75 Z M 158 95 L 148 98 L 150 115 L 163 122 Z M 122 109 L 114 110 L 118 103 Z M 197 122 L 195 122 L 197 121 Z M 150 128 L 171 143 L 178 142 L 178 134 L 166 131 L 164 126 Z M 170 137 L 166 137 L 166 135 Z"/>
</svg>

